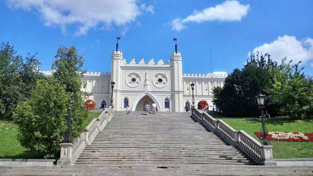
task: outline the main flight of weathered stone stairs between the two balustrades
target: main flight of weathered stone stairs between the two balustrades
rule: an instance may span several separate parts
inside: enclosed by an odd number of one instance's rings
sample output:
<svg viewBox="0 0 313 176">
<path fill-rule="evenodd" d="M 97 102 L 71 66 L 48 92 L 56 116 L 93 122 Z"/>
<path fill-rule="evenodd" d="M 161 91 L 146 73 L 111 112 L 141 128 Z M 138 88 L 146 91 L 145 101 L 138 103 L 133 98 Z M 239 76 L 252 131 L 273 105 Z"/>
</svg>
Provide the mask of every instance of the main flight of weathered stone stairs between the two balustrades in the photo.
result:
<svg viewBox="0 0 313 176">
<path fill-rule="evenodd" d="M 76 164 L 256 164 L 240 148 L 192 120 L 191 113 L 114 114 Z"/>
</svg>

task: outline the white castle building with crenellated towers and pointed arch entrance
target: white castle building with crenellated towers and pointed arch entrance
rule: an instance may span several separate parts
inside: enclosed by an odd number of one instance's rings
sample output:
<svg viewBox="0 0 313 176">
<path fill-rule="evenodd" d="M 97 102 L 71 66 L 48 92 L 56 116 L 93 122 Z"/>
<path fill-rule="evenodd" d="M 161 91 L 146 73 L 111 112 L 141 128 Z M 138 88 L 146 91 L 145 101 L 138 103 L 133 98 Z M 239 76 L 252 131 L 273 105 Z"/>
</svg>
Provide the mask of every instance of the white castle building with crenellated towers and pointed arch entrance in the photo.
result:
<svg viewBox="0 0 313 176">
<path fill-rule="evenodd" d="M 147 63 L 141 59 L 136 63 L 133 58 L 129 63 L 123 52 L 116 50 L 111 54 L 111 72 L 87 72 L 82 80 L 87 83 L 86 92 L 96 103 L 96 108 L 107 108 L 110 104 L 111 82 L 113 103 L 117 111 L 125 110 L 130 105 L 132 111 L 143 111 L 146 103 L 156 103 L 156 111 L 183 112 L 184 107 L 192 105 L 191 83 L 194 83 L 195 106 L 200 100 L 207 100 L 209 109 L 213 109 L 212 87 L 223 86 L 227 74 L 183 74 L 182 56 L 177 51 L 171 54 L 167 64 L 163 59 L 150 59 Z M 42 71 L 51 75 L 51 71 Z"/>
</svg>

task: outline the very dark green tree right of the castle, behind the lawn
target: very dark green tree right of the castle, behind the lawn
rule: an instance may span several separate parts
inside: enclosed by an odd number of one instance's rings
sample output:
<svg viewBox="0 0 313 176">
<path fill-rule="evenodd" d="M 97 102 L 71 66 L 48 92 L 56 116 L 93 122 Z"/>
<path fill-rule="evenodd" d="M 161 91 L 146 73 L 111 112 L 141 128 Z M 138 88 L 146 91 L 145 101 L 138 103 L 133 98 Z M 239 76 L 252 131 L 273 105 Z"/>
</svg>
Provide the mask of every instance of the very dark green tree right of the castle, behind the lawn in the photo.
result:
<svg viewBox="0 0 313 176">
<path fill-rule="evenodd" d="M 267 57 L 267 61 L 265 59 Z M 269 70 L 277 67 L 268 53 L 255 56 L 241 70 L 235 68 L 224 81 L 223 88 L 213 89 L 213 103 L 226 116 L 251 117 L 258 116 L 259 110 L 255 99 L 257 93 L 264 93 L 269 86 L 272 75 Z M 267 107 L 269 112 L 275 112 L 275 107 Z"/>
</svg>

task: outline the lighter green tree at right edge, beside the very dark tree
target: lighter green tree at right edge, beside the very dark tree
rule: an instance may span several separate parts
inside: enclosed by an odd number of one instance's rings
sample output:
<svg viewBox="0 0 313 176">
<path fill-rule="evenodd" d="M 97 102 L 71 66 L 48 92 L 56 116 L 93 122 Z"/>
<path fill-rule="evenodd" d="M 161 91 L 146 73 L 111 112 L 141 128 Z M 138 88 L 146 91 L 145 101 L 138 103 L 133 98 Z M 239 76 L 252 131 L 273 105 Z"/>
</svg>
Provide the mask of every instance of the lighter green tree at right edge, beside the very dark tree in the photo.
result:
<svg viewBox="0 0 313 176">
<path fill-rule="evenodd" d="M 269 104 L 279 104 L 281 115 L 290 115 L 296 118 L 305 118 L 313 114 L 313 83 L 312 77 L 305 77 L 301 73 L 299 64 L 285 63 L 286 58 L 278 68 L 272 70 L 274 75 L 272 86 L 266 88 L 271 95 Z"/>
</svg>

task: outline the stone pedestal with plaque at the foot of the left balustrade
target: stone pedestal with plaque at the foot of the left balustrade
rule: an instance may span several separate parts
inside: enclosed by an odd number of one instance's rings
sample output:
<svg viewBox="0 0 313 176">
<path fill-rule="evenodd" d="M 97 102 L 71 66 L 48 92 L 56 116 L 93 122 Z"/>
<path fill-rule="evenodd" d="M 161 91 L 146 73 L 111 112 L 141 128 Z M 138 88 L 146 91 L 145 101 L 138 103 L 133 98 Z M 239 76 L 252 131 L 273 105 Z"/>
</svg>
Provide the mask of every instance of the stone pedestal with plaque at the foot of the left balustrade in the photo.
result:
<svg viewBox="0 0 313 176">
<path fill-rule="evenodd" d="M 74 165 L 73 146 L 72 143 L 61 143 L 61 155 L 60 159 L 57 161 L 58 166 Z"/>
</svg>

